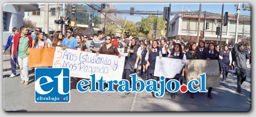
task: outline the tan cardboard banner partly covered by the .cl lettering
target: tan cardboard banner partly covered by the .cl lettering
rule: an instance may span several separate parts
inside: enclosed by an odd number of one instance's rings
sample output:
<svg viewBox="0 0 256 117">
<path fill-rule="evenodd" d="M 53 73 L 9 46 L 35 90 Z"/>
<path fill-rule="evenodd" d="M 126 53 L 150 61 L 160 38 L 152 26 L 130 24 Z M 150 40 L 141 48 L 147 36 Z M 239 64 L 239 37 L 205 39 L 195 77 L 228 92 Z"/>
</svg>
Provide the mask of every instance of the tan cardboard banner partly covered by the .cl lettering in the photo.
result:
<svg viewBox="0 0 256 117">
<path fill-rule="evenodd" d="M 206 87 L 220 87 L 220 67 L 218 60 L 187 60 L 186 66 L 186 82 L 196 79 L 201 82 L 199 74 L 206 73 Z M 200 84 L 198 86 L 200 87 Z"/>
</svg>

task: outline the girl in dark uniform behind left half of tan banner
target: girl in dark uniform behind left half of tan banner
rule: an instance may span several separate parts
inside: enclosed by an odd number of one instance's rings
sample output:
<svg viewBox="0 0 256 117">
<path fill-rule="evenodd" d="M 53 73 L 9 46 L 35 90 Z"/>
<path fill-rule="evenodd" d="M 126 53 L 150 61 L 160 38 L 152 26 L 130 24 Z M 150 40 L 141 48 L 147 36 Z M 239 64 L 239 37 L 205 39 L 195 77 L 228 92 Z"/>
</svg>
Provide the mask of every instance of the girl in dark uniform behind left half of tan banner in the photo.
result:
<svg viewBox="0 0 256 117">
<path fill-rule="evenodd" d="M 186 52 L 186 58 L 188 59 L 197 59 L 198 51 L 196 50 L 196 43 L 189 44 L 189 50 Z M 181 82 L 182 83 L 182 82 Z M 194 98 L 194 93 L 190 92 L 190 97 Z"/>
</svg>

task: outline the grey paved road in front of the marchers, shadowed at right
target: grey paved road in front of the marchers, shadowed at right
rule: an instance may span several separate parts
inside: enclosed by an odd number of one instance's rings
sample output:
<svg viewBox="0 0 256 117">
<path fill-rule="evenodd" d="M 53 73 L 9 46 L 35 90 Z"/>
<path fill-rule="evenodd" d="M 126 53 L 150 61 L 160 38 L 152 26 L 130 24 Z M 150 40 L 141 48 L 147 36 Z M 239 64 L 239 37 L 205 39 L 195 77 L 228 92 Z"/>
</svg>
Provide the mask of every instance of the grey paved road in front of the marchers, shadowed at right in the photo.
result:
<svg viewBox="0 0 256 117">
<path fill-rule="evenodd" d="M 242 93 L 236 93 L 237 80 L 234 71 L 229 71 L 228 79 L 221 81 L 220 88 L 213 88 L 213 99 L 207 93 L 176 93 L 172 99 L 168 92 L 161 98 L 151 93 L 80 93 L 76 89 L 76 79 L 71 79 L 70 103 L 35 103 L 34 73 L 29 71 L 29 85 L 20 84 L 20 76 L 9 78 L 11 71 L 3 72 L 3 109 L 5 111 L 45 112 L 248 112 L 251 109 L 251 69 L 247 69 L 247 79 L 241 86 Z M 17 70 L 19 74 L 19 70 Z"/>
</svg>

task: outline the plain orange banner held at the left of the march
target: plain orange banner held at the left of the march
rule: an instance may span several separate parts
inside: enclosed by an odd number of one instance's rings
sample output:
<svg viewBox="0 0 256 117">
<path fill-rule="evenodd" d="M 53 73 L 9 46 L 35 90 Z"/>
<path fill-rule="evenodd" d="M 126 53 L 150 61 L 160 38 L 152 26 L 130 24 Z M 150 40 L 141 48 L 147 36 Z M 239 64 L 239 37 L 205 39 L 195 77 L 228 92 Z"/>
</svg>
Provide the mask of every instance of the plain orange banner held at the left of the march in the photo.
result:
<svg viewBox="0 0 256 117">
<path fill-rule="evenodd" d="M 29 67 L 50 67 L 54 57 L 54 48 L 28 48 Z"/>
</svg>

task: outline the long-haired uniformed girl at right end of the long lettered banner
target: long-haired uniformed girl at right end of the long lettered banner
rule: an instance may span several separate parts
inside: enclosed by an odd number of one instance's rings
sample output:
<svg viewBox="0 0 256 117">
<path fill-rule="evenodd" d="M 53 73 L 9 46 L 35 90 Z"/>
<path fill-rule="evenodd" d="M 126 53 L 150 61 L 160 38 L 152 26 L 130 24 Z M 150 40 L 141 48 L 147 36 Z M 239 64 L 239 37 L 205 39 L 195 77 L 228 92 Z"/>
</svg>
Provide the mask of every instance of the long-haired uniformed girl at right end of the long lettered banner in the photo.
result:
<svg viewBox="0 0 256 117">
<path fill-rule="evenodd" d="M 134 70 L 138 68 L 138 61 L 141 57 L 138 54 L 140 46 L 141 46 L 140 42 L 136 38 L 131 39 L 131 47 L 128 52 L 127 60 L 125 61 L 125 68 L 124 68 L 125 78 L 126 80 L 129 81 L 130 86 L 131 86 L 131 79 L 129 75 L 132 74 Z M 126 92 L 125 94 L 128 95 L 130 94 L 130 92 Z"/>
</svg>

